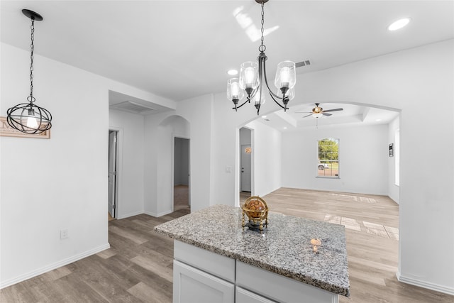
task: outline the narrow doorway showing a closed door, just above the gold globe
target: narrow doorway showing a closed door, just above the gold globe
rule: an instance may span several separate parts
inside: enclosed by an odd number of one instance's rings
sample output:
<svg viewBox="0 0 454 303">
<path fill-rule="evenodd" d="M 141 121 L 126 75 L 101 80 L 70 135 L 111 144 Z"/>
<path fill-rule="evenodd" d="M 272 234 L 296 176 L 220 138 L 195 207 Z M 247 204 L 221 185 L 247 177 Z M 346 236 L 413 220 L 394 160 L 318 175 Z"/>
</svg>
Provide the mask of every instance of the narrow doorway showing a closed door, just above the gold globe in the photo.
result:
<svg viewBox="0 0 454 303">
<path fill-rule="evenodd" d="M 252 131 L 240 128 L 240 204 L 251 196 L 252 192 Z"/>
</svg>

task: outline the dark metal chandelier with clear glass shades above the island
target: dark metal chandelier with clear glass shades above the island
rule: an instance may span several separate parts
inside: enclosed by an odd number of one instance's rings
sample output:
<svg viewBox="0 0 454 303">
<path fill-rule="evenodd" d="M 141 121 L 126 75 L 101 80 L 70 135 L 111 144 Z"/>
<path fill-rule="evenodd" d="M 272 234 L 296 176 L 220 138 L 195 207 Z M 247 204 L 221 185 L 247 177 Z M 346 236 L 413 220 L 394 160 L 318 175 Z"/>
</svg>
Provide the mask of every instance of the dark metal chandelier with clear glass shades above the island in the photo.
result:
<svg viewBox="0 0 454 303">
<path fill-rule="evenodd" d="M 283 61 L 277 65 L 275 76 L 276 93 L 272 92 L 272 89 L 270 89 L 270 86 L 268 85 L 265 67 L 265 61 L 267 60 L 267 56 L 265 55 L 266 47 L 263 44 L 263 24 L 265 17 L 263 7 L 267 1 L 268 0 L 255 0 L 255 2 L 262 5 L 261 44 L 258 48 L 260 51 L 257 58 L 258 62 L 244 62 L 240 66 L 240 77 L 229 79 L 227 82 L 227 97 L 235 104 L 235 107 L 233 107 L 235 111 L 238 111 L 241 106 L 250 103 L 251 99 L 253 99 L 257 114 L 260 113 L 260 106 L 265 103 L 265 96 L 262 94 L 262 91 L 265 90 L 263 82 L 265 82 L 266 89 L 270 93 L 271 99 L 282 107 L 284 111 L 289 109 L 287 104 L 294 98 L 294 86 L 297 82 L 294 62 Z M 238 106 L 238 102 L 243 99 L 244 96 L 246 97 L 245 101 Z M 279 102 L 282 102 L 282 104 Z"/>
</svg>

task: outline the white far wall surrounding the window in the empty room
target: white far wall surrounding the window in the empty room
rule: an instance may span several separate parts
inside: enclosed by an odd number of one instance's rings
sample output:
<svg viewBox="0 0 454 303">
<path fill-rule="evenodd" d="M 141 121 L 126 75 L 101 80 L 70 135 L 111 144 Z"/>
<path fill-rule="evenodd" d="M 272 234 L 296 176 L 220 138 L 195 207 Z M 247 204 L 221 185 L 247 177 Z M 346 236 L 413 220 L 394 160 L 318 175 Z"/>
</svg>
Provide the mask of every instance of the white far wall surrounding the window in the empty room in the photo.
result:
<svg viewBox="0 0 454 303">
<path fill-rule="evenodd" d="M 282 186 L 362 194 L 388 194 L 388 128 L 344 126 L 282 134 Z M 339 139 L 339 179 L 319 178 L 317 144 Z"/>
</svg>

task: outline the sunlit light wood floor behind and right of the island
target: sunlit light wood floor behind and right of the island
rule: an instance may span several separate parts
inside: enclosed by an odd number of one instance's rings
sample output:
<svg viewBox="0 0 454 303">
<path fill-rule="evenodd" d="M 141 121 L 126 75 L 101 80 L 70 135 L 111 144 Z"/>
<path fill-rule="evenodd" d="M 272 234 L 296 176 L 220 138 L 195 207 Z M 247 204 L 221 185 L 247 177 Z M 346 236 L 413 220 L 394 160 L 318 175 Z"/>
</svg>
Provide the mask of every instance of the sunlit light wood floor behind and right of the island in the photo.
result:
<svg viewBox="0 0 454 303">
<path fill-rule="evenodd" d="M 339 302 L 454 302 L 454 296 L 397 281 L 399 206 L 385 196 L 281 188 L 270 211 L 345 225 L 350 298 Z"/>
</svg>

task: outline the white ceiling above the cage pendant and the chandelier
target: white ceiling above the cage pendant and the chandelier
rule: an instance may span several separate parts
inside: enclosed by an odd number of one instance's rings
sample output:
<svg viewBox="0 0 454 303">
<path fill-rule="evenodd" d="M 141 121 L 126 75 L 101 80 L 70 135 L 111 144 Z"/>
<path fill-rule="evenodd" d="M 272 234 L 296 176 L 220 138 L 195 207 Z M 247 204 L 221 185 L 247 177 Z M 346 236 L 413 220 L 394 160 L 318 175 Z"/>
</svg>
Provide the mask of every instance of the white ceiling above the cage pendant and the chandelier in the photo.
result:
<svg viewBox="0 0 454 303">
<path fill-rule="evenodd" d="M 1 1 L 1 42 L 29 50 L 30 21 L 21 9 L 44 18 L 35 23 L 35 53 L 175 101 L 223 92 L 231 77 L 226 71 L 258 56 L 259 41 L 237 22 L 250 18 L 252 28 L 260 28 L 253 0 Z M 387 31 L 405 16 L 412 18 L 409 26 Z M 454 38 L 454 1 L 270 0 L 265 29 L 275 26 L 265 37 L 271 79 L 282 60 L 310 60 L 298 72 L 314 72 Z M 339 104 L 322 104 L 333 106 Z M 319 127 L 365 110 L 341 107 L 319 119 Z"/>
</svg>

